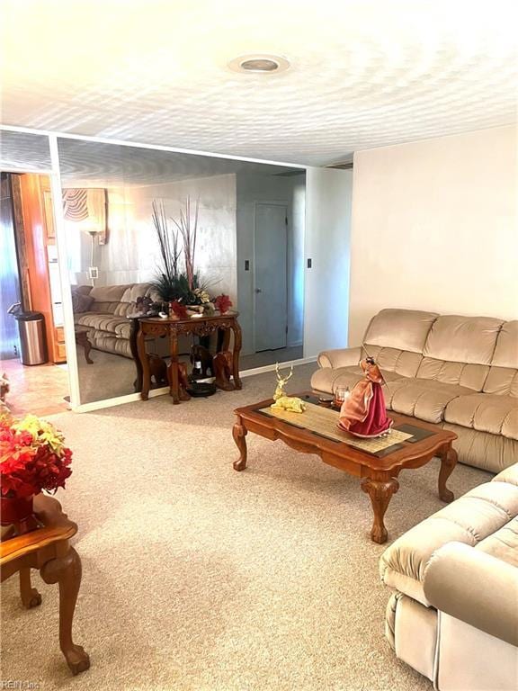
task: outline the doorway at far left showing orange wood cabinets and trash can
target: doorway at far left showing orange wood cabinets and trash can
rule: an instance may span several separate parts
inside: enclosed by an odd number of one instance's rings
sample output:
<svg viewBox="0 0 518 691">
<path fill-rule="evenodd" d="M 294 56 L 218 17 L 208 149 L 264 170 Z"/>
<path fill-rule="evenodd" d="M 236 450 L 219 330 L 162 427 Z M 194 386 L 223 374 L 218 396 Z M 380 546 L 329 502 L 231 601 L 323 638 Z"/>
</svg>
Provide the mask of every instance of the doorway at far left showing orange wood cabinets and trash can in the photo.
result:
<svg viewBox="0 0 518 691">
<path fill-rule="evenodd" d="M 0 178 L 3 407 L 15 416 L 29 412 L 49 415 L 68 408 L 67 354 L 50 178 L 6 171 L 0 173 Z M 20 318 L 23 313 L 31 318 L 19 322 L 26 329 L 42 319 L 37 357 L 34 344 L 25 352 L 19 338 L 13 314 Z"/>
</svg>

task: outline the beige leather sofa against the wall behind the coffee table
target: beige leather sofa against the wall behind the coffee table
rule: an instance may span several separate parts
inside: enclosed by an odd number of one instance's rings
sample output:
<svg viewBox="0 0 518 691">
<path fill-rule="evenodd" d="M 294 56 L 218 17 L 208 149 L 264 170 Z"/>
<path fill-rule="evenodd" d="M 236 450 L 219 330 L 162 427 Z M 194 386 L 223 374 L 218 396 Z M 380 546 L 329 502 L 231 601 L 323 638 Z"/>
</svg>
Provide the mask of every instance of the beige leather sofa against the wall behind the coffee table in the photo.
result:
<svg viewBox="0 0 518 691">
<path fill-rule="evenodd" d="M 367 353 L 387 408 L 456 432 L 460 462 L 498 472 L 518 460 L 518 321 L 381 310 L 362 347 L 319 354 L 312 387 L 352 388 Z"/>
</svg>

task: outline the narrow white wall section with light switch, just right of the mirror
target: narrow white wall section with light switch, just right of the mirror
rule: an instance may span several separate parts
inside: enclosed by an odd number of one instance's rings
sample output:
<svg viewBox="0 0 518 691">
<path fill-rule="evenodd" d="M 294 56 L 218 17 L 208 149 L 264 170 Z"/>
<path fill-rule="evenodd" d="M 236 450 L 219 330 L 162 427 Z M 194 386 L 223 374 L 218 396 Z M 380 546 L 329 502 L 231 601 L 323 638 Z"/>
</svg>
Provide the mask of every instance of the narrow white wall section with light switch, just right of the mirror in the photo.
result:
<svg viewBox="0 0 518 691">
<path fill-rule="evenodd" d="M 308 168 L 304 357 L 347 344 L 352 192 L 351 170 Z"/>
</svg>

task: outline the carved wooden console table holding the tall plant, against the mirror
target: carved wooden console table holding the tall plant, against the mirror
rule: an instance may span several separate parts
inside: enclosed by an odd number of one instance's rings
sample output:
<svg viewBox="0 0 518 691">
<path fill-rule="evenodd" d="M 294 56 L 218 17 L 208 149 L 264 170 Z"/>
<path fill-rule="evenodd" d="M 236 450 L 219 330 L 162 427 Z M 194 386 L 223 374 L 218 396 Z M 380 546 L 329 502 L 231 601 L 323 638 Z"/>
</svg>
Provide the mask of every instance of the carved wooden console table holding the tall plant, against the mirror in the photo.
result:
<svg viewBox="0 0 518 691">
<path fill-rule="evenodd" d="M 131 352 L 137 365 L 137 387 L 140 389 L 140 396 L 143 400 L 149 397 L 151 377 L 149 373 L 149 362 L 146 352 L 146 337 L 166 336 L 169 338 L 171 353 L 171 381 L 170 393 L 174 403 L 180 403 L 179 378 L 178 378 L 178 337 L 186 334 L 196 336 L 209 336 L 213 331 L 223 333 L 222 342 L 219 350 L 228 350 L 230 345 L 230 332 L 234 334 L 234 344 L 232 350 L 232 376 L 236 389 L 241 389 L 242 384 L 239 379 L 239 353 L 241 351 L 241 327 L 237 323 L 237 312 L 227 312 L 214 317 L 201 317 L 199 319 L 160 319 L 160 317 L 139 317 L 134 321 L 138 323 L 137 328 L 132 329 L 132 339 L 130 339 Z M 132 340 L 132 342 L 131 342 Z"/>
</svg>

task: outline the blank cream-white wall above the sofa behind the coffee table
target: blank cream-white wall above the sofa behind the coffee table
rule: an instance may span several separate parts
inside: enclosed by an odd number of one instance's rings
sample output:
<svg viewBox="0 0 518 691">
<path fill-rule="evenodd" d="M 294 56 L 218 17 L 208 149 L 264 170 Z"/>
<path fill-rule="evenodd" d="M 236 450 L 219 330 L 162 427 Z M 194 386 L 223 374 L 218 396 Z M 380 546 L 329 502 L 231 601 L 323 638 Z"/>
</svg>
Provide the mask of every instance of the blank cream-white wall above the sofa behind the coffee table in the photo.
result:
<svg viewBox="0 0 518 691">
<path fill-rule="evenodd" d="M 516 130 L 354 156 L 349 344 L 384 307 L 518 317 Z"/>
</svg>

